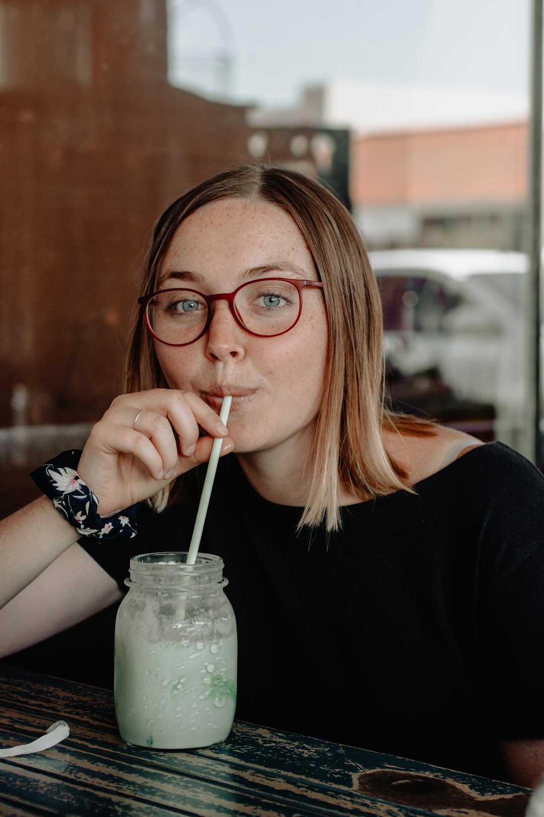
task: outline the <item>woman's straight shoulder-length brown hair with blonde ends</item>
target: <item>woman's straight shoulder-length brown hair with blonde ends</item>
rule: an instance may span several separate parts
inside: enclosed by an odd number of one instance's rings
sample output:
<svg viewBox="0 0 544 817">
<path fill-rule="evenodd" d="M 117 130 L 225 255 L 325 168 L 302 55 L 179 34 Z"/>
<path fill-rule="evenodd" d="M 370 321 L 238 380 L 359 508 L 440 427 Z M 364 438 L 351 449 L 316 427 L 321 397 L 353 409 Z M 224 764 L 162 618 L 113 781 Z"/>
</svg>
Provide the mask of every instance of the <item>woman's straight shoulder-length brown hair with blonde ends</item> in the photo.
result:
<svg viewBox="0 0 544 817">
<path fill-rule="evenodd" d="M 313 438 L 312 482 L 300 525 L 338 529 L 340 486 L 360 499 L 409 490 L 406 473 L 389 458 L 383 430 L 434 433 L 433 424 L 389 411 L 385 404 L 383 310 L 378 283 L 359 230 L 324 186 L 286 167 L 248 165 L 219 173 L 177 199 L 153 234 L 144 292 L 153 292 L 162 258 L 179 225 L 205 204 L 221 199 L 275 204 L 299 227 L 323 283 L 328 319 L 325 389 Z M 135 319 L 126 363 L 126 392 L 167 387 L 142 310 Z M 153 498 L 161 511 L 187 497 L 195 474 Z"/>
</svg>

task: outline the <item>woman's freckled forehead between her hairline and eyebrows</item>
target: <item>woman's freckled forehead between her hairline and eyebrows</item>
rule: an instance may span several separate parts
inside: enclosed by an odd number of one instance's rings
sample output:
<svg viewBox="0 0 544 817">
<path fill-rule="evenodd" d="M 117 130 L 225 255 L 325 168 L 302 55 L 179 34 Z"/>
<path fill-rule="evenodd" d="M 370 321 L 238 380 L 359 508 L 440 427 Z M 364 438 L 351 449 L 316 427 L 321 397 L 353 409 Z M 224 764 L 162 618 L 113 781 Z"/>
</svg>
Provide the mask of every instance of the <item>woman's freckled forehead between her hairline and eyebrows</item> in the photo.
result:
<svg viewBox="0 0 544 817">
<path fill-rule="evenodd" d="M 241 272 L 285 261 L 315 275 L 312 255 L 293 219 L 268 202 L 224 199 L 206 204 L 179 225 L 161 271 Z"/>
</svg>

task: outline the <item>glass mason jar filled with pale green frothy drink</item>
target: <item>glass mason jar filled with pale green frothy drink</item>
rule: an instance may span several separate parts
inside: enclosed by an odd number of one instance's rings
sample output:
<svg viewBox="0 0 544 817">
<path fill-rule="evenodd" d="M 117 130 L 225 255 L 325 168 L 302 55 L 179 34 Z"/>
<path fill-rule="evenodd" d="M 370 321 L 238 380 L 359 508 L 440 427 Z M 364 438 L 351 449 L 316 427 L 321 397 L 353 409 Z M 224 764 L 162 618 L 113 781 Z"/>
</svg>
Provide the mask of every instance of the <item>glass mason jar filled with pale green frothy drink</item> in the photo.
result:
<svg viewBox="0 0 544 817">
<path fill-rule="evenodd" d="M 144 553 L 130 560 L 117 610 L 114 696 L 126 743 L 189 749 L 224 740 L 237 691 L 237 628 L 210 553 Z"/>
</svg>

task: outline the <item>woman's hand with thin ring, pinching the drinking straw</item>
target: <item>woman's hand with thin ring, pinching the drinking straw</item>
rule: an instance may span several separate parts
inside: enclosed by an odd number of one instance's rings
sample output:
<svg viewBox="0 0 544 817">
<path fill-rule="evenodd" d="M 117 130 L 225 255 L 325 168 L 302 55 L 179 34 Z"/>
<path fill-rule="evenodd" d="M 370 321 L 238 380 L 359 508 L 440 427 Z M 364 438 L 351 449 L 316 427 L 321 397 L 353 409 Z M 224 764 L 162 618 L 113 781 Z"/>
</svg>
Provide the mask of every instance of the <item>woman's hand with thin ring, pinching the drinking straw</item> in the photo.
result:
<svg viewBox="0 0 544 817">
<path fill-rule="evenodd" d="M 135 423 L 135 418 L 138 417 Z M 200 428 L 209 436 L 200 436 Z M 141 502 L 234 444 L 213 408 L 190 391 L 153 389 L 121 395 L 93 426 L 77 472 L 99 501 L 100 516 Z"/>
</svg>

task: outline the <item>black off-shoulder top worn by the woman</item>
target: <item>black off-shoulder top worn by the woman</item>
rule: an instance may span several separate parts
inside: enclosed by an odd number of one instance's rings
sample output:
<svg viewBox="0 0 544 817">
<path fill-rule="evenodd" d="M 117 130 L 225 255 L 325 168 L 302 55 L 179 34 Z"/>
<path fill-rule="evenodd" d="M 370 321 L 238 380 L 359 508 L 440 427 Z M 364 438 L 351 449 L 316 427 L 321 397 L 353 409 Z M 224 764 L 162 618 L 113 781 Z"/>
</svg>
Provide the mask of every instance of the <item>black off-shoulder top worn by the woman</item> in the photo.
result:
<svg viewBox="0 0 544 817">
<path fill-rule="evenodd" d="M 296 535 L 219 461 L 201 552 L 223 557 L 237 616 L 237 717 L 475 774 L 499 739 L 544 738 L 544 478 L 501 443 Z M 197 502 L 139 532 L 81 540 L 124 588 L 130 556 L 186 551 Z"/>
</svg>

